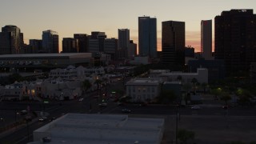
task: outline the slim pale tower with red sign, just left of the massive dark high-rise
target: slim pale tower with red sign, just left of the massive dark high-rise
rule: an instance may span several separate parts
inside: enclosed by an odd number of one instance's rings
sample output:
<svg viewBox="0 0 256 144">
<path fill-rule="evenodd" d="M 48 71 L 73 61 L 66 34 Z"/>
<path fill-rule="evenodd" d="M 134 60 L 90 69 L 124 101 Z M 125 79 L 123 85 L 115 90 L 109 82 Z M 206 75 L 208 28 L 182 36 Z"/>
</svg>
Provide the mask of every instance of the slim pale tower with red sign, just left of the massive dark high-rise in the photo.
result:
<svg viewBox="0 0 256 144">
<path fill-rule="evenodd" d="M 201 21 L 201 53 L 202 58 L 212 59 L 212 22 L 211 20 Z"/>
</svg>

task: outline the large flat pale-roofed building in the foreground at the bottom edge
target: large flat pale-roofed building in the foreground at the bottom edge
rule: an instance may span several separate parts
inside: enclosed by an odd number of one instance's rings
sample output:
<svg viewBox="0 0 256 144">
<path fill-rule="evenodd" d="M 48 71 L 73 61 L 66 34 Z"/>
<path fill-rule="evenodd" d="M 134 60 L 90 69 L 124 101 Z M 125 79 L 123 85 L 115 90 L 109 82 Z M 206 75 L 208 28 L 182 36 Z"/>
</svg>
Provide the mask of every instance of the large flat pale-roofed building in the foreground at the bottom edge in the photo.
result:
<svg viewBox="0 0 256 144">
<path fill-rule="evenodd" d="M 66 114 L 34 130 L 34 142 L 50 138 L 50 143 L 76 144 L 160 144 L 164 132 L 162 118 L 128 118 L 127 115 Z"/>
</svg>

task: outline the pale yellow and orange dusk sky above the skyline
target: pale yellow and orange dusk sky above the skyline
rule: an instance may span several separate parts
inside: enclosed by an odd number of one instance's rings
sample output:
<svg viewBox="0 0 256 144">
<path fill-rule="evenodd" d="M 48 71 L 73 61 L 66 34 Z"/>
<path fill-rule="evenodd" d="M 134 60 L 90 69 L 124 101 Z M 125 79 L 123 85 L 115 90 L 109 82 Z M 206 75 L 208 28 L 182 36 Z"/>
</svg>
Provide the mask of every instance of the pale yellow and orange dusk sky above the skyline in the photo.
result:
<svg viewBox="0 0 256 144">
<path fill-rule="evenodd" d="M 223 10 L 254 9 L 256 0 L 1 0 L 0 26 L 18 26 L 28 44 L 42 39 L 43 30 L 54 30 L 62 38 L 73 34 L 106 32 L 118 38 L 118 29 L 130 29 L 130 39 L 138 43 L 138 17 L 157 18 L 158 50 L 161 50 L 162 22 L 186 22 L 186 46 L 200 51 L 200 22 L 213 20 Z M 214 47 L 213 47 L 214 48 Z"/>
</svg>

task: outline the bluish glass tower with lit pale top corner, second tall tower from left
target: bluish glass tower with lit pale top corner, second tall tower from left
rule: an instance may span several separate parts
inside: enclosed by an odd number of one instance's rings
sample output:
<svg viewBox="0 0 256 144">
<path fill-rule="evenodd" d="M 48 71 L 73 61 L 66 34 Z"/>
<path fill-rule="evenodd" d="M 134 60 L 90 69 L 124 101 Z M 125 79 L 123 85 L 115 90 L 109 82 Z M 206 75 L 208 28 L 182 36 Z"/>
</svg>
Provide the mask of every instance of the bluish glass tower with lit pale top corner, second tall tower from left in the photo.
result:
<svg viewBox="0 0 256 144">
<path fill-rule="evenodd" d="M 42 31 L 42 50 L 44 53 L 58 53 L 58 33 L 56 31 Z"/>
</svg>

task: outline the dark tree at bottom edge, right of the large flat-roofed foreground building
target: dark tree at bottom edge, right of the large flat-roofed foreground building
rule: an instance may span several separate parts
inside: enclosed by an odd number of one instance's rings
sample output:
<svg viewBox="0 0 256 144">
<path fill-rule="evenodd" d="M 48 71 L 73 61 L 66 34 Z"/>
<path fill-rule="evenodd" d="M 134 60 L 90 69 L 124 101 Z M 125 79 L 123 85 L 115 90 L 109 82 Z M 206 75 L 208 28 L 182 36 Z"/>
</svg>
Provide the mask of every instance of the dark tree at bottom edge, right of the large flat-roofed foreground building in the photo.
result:
<svg viewBox="0 0 256 144">
<path fill-rule="evenodd" d="M 180 129 L 178 130 L 178 140 L 182 143 L 186 143 L 189 140 L 193 140 L 194 139 L 194 131 L 190 131 L 190 130 L 185 130 L 185 129 Z"/>
</svg>

